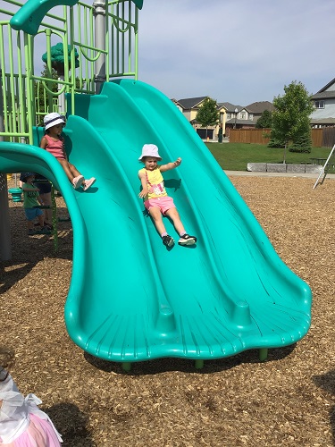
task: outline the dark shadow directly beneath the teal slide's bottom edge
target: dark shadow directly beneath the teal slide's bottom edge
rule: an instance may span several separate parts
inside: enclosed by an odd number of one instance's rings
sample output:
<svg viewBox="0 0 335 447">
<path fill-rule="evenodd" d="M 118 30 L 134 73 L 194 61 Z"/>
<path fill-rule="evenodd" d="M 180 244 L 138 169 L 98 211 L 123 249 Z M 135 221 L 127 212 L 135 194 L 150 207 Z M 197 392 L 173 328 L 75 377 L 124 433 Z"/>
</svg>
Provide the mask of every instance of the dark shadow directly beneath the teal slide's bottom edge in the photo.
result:
<svg viewBox="0 0 335 447">
<path fill-rule="evenodd" d="M 267 362 L 277 361 L 286 358 L 294 350 L 296 344 L 292 344 L 285 348 L 276 348 L 269 350 Z M 244 363 L 261 363 L 259 360 L 259 350 L 247 350 L 237 354 L 236 356 L 218 358 L 215 360 L 205 360 L 204 367 L 197 369 L 194 360 L 184 358 L 157 358 L 142 362 L 133 362 L 130 371 L 124 371 L 122 364 L 117 362 L 109 362 L 102 358 L 96 358 L 88 352 L 84 352 L 84 358 L 93 367 L 106 373 L 126 374 L 126 375 L 156 375 L 168 371 L 180 371 L 183 373 L 212 374 L 216 372 L 226 371 L 234 367 L 238 367 Z"/>
</svg>

